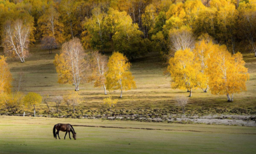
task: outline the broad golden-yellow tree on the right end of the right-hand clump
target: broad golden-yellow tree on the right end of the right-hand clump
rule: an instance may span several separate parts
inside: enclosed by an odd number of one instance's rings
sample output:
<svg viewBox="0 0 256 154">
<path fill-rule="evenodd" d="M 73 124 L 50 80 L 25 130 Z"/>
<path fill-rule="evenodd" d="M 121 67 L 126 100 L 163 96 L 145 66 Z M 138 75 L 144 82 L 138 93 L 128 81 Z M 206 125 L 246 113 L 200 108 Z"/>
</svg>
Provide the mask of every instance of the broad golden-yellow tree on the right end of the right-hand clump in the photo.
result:
<svg viewBox="0 0 256 154">
<path fill-rule="evenodd" d="M 248 68 L 241 53 L 234 54 L 227 51 L 225 45 L 209 59 L 208 66 L 209 87 L 214 95 L 227 95 L 227 101 L 233 101 L 234 93 L 246 91 L 246 81 L 249 80 Z"/>
</svg>

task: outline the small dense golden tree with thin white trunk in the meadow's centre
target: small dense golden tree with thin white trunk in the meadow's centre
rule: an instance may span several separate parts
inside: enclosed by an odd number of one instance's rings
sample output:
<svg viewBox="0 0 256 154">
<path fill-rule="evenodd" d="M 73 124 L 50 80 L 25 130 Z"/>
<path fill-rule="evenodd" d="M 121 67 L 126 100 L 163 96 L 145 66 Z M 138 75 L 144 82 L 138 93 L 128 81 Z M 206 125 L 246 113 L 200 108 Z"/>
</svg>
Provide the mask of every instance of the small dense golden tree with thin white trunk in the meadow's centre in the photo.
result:
<svg viewBox="0 0 256 154">
<path fill-rule="evenodd" d="M 132 72 L 129 71 L 130 63 L 126 56 L 114 52 L 107 63 L 109 70 L 106 73 L 106 86 L 109 91 L 120 89 L 122 98 L 123 90 L 127 91 L 136 88 Z"/>
</svg>

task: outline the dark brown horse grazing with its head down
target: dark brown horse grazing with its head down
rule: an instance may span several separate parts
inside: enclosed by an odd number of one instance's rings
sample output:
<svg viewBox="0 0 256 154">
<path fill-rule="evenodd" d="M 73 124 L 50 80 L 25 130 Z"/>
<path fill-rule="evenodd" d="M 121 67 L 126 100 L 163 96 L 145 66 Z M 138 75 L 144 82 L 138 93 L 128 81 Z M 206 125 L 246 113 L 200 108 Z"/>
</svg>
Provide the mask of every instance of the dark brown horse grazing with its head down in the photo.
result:
<svg viewBox="0 0 256 154">
<path fill-rule="evenodd" d="M 56 132 L 56 129 L 57 129 L 57 132 Z M 59 130 L 61 130 L 62 132 L 66 132 L 64 140 L 66 138 L 67 132 L 69 132 L 69 138 L 70 138 L 70 132 L 72 132 L 73 138 L 76 140 L 76 132 L 71 124 L 55 124 L 55 126 L 53 127 L 53 136 L 56 139 L 57 139 L 57 135 L 59 137 Z M 59 140 L 61 140 L 61 138 L 59 138 Z M 70 140 L 71 140 L 71 138 L 70 138 Z"/>
</svg>

